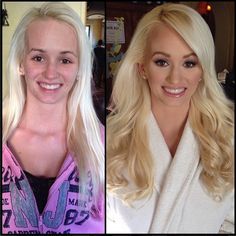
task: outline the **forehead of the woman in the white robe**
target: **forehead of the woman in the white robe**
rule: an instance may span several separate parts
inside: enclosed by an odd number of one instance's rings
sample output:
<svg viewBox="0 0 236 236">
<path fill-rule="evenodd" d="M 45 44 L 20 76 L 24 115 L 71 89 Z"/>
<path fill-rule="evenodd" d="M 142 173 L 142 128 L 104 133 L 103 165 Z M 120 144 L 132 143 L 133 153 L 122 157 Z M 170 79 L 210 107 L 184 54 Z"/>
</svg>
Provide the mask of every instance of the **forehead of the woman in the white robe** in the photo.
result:
<svg viewBox="0 0 236 236">
<path fill-rule="evenodd" d="M 161 50 L 170 54 L 178 52 L 190 53 L 193 50 L 184 39 L 170 26 L 158 24 L 153 26 L 148 35 L 148 50 Z"/>
</svg>

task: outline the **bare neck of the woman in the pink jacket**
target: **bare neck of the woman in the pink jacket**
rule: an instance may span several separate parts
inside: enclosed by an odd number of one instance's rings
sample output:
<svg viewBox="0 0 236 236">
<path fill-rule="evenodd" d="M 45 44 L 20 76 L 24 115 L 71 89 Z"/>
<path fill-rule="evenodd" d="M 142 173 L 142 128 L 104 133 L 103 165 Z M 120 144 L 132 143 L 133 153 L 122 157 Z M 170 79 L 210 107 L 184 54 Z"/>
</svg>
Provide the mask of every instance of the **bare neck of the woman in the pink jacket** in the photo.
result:
<svg viewBox="0 0 236 236">
<path fill-rule="evenodd" d="M 66 104 L 26 102 L 19 126 L 37 133 L 65 132 L 67 125 Z"/>
</svg>

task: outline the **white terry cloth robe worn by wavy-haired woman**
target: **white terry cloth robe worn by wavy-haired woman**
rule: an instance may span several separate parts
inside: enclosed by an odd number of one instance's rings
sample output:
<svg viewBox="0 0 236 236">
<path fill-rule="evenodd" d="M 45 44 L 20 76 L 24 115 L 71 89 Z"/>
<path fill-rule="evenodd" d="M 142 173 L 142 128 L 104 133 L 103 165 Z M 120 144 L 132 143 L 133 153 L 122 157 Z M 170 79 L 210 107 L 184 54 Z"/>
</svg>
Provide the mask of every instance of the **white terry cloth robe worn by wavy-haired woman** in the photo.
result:
<svg viewBox="0 0 236 236">
<path fill-rule="evenodd" d="M 152 113 L 148 137 L 155 190 L 149 198 L 136 200 L 133 207 L 107 194 L 107 233 L 234 233 L 234 192 L 216 202 L 203 191 L 198 145 L 189 123 L 174 158 Z"/>
</svg>

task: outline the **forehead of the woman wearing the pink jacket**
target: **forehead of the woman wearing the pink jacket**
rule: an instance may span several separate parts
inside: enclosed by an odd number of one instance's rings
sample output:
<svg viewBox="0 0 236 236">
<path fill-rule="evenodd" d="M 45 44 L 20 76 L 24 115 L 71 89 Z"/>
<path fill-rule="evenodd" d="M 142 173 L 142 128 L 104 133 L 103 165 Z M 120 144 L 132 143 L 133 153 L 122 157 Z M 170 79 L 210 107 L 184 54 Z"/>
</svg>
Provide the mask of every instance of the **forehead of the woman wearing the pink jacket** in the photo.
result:
<svg viewBox="0 0 236 236">
<path fill-rule="evenodd" d="M 46 18 L 31 22 L 26 31 L 28 47 L 68 48 L 77 50 L 75 29 L 62 21 Z"/>
</svg>

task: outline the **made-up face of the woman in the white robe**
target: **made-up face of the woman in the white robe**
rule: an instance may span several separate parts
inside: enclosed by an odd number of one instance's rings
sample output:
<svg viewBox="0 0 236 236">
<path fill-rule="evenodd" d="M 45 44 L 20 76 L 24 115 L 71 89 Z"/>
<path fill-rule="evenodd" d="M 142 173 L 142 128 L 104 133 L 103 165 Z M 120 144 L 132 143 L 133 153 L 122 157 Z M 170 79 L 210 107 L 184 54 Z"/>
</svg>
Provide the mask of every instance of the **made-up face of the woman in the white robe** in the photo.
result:
<svg viewBox="0 0 236 236">
<path fill-rule="evenodd" d="M 145 62 L 139 69 L 148 80 L 152 106 L 188 109 L 202 77 L 197 56 L 165 25 L 150 33 L 147 45 Z"/>
</svg>

